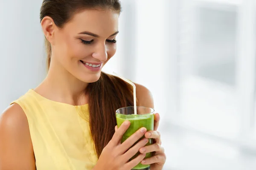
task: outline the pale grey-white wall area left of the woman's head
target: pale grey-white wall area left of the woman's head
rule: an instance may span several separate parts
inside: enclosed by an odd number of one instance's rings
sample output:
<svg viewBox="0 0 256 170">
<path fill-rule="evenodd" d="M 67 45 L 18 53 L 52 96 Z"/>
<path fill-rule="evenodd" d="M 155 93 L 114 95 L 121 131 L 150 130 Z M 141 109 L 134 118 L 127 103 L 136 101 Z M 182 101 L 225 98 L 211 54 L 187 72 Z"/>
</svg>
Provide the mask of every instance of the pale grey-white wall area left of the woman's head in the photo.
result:
<svg viewBox="0 0 256 170">
<path fill-rule="evenodd" d="M 0 112 L 44 78 L 41 0 L 0 0 Z"/>
</svg>

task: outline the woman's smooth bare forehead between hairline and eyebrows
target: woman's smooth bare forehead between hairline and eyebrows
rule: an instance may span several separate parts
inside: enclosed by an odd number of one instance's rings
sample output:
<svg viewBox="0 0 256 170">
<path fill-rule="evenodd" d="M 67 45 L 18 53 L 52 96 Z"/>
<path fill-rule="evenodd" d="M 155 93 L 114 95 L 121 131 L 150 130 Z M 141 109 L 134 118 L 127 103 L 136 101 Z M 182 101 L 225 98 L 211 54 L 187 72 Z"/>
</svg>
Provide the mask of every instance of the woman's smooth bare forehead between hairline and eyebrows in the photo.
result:
<svg viewBox="0 0 256 170">
<path fill-rule="evenodd" d="M 90 31 L 99 36 L 110 36 L 118 31 L 119 14 L 115 11 L 85 9 L 73 15 L 64 25 L 64 30 L 74 33 Z"/>
</svg>

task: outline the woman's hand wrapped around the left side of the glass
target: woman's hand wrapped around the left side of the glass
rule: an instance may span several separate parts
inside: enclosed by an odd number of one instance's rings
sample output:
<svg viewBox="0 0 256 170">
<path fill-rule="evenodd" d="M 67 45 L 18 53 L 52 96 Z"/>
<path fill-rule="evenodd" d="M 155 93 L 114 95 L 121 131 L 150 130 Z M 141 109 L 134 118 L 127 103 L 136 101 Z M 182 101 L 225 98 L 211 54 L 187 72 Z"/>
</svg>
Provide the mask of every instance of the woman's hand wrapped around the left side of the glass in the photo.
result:
<svg viewBox="0 0 256 170">
<path fill-rule="evenodd" d="M 144 138 L 134 145 L 147 131 L 145 127 L 142 127 L 121 144 L 122 136 L 129 126 L 130 122 L 126 120 L 118 129 L 116 128 L 116 132 L 102 150 L 93 170 L 131 170 L 145 158 L 145 154 L 140 154 L 129 161 L 141 147 L 148 143 L 148 139 Z"/>
</svg>

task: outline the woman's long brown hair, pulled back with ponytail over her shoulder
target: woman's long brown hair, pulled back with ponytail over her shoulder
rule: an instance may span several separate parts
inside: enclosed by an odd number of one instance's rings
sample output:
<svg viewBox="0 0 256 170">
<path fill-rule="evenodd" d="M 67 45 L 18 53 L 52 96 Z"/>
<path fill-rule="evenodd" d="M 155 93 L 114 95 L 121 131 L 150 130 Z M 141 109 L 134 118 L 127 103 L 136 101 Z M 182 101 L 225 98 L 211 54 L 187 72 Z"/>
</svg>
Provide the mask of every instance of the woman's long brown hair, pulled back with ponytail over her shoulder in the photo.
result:
<svg viewBox="0 0 256 170">
<path fill-rule="evenodd" d="M 119 0 L 44 0 L 41 6 L 40 19 L 49 16 L 58 27 L 63 27 L 71 20 L 74 11 L 88 8 L 111 9 L 121 12 Z M 51 44 L 46 39 L 47 66 L 51 62 Z M 118 108 L 132 106 L 133 91 L 131 85 L 118 77 L 101 73 L 97 82 L 87 86 L 90 110 L 90 131 L 95 144 L 96 154 L 99 157 L 103 148 L 114 134 L 116 126 L 115 111 Z"/>
</svg>

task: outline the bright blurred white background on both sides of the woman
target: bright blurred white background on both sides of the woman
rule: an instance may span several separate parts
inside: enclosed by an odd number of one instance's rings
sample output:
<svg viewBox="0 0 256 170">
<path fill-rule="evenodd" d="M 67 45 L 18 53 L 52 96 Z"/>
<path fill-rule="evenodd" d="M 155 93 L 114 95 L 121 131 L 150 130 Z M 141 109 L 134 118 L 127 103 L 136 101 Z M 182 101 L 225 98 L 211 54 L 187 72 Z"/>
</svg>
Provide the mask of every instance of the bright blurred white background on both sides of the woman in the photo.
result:
<svg viewBox="0 0 256 170">
<path fill-rule="evenodd" d="M 256 169 L 256 0 L 121 0 L 105 66 L 151 90 L 164 170 Z M 0 0 L 0 110 L 46 75 L 40 0 Z"/>
</svg>

